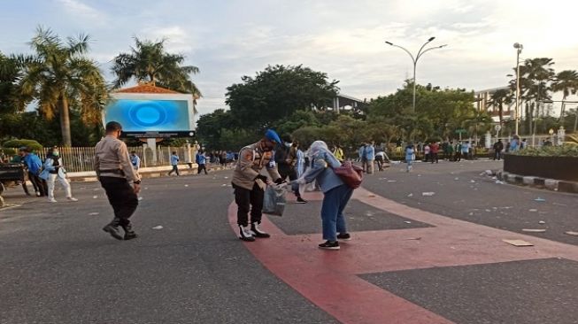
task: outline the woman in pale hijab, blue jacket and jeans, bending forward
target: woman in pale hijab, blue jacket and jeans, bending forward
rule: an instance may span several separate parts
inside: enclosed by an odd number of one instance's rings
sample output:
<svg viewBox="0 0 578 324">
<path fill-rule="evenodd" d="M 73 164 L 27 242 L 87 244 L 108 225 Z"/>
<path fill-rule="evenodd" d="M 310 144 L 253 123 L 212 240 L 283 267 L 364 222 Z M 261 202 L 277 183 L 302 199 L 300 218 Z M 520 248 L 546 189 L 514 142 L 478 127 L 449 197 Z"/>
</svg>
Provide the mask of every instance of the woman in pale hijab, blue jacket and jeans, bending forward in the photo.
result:
<svg viewBox="0 0 578 324">
<path fill-rule="evenodd" d="M 328 149 L 328 144 L 323 141 L 313 142 L 308 155 L 311 167 L 296 182 L 305 184 L 317 181 L 320 184 L 323 191 L 321 223 L 323 239 L 326 242 L 320 243 L 319 247 L 324 250 L 339 250 L 338 239 L 351 240 L 351 235 L 347 233 L 345 226 L 343 210 L 353 194 L 353 189 L 333 171 L 333 168 L 341 166 L 341 163 Z"/>
</svg>

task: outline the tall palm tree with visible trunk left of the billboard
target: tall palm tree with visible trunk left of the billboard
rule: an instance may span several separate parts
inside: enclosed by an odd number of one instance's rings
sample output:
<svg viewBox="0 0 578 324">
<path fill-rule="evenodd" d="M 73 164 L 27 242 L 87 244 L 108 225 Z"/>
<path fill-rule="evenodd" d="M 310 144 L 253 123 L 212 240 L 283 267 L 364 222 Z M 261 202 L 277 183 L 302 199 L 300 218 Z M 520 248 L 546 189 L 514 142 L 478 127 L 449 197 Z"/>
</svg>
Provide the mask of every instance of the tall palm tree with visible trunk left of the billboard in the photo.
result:
<svg viewBox="0 0 578 324">
<path fill-rule="evenodd" d="M 89 35 L 62 42 L 50 29 L 38 27 L 29 43 L 35 54 L 21 57 L 24 75 L 19 81 L 23 96 L 34 96 L 47 119 L 60 117 L 62 142 L 72 146 L 69 109 L 78 107 L 82 120 L 100 122 L 108 89 L 96 62 L 84 55 Z"/>
</svg>

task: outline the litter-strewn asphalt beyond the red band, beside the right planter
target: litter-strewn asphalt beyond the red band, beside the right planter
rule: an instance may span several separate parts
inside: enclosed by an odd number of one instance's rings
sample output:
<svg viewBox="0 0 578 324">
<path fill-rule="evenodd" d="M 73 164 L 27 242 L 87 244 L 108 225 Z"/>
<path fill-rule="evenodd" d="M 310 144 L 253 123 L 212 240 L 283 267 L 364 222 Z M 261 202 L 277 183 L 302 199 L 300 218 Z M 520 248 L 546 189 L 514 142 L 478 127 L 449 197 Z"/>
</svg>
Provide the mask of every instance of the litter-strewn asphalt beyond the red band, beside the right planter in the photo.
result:
<svg viewBox="0 0 578 324">
<path fill-rule="evenodd" d="M 366 176 L 363 186 L 382 197 L 492 228 L 536 235 L 578 245 L 578 196 L 545 189 L 496 183 L 485 170 L 497 170 L 501 161 L 440 161 L 416 163 L 411 173 L 405 164 Z M 423 196 L 424 193 L 434 196 Z M 522 229 L 545 229 L 543 233 Z"/>
</svg>

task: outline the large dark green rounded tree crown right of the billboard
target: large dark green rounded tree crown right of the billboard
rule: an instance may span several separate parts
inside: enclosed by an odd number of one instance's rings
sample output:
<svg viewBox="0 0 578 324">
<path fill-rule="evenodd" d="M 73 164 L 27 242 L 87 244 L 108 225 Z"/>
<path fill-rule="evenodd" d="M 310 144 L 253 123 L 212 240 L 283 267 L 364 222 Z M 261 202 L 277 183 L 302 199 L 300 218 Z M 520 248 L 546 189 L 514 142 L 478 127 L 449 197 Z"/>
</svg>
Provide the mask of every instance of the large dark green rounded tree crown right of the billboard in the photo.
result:
<svg viewBox="0 0 578 324">
<path fill-rule="evenodd" d="M 243 127 L 263 130 L 298 110 L 323 110 L 336 96 L 338 81 L 303 66 L 267 66 L 255 77 L 227 88 L 226 103 Z"/>
</svg>

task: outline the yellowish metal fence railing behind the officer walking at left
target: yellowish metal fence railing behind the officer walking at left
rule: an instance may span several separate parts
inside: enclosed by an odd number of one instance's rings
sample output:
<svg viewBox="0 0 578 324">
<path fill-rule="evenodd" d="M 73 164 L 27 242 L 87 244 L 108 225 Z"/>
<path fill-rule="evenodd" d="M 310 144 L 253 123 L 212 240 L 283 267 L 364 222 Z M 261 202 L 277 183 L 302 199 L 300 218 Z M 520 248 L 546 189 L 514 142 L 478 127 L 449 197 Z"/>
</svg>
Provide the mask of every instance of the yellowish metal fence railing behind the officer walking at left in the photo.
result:
<svg viewBox="0 0 578 324">
<path fill-rule="evenodd" d="M 48 153 L 48 148 L 38 151 L 38 156 L 44 160 Z M 62 164 L 67 172 L 87 172 L 94 171 L 95 148 L 94 147 L 61 147 L 58 148 Z M 190 162 L 189 157 L 194 161 L 196 151 L 187 147 L 158 146 L 155 150 L 144 149 L 143 146 L 129 147 L 128 152 L 135 151 L 141 158 L 141 167 L 147 166 L 170 166 L 171 154 L 177 153 L 180 163 Z M 189 155 L 190 154 L 190 155 Z M 155 157 L 156 156 L 156 160 Z"/>
</svg>

